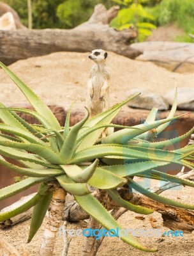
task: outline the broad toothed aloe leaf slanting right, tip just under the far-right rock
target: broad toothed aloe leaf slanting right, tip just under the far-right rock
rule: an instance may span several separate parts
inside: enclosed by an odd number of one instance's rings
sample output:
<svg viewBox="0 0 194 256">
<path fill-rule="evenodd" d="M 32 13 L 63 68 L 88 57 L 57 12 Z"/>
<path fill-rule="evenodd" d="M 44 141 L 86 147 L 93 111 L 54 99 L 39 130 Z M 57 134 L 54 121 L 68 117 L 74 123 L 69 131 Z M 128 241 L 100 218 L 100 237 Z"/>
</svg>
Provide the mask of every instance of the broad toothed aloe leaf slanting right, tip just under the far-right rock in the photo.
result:
<svg viewBox="0 0 194 256">
<path fill-rule="evenodd" d="M 177 118 L 180 118 L 180 116 L 176 116 L 174 118 L 166 118 L 163 120 L 155 121 L 153 123 L 144 123 L 144 124 L 139 124 L 135 125 L 135 128 L 140 128 L 141 130 L 138 129 L 123 129 L 121 131 L 114 132 L 114 134 L 110 134 L 107 137 L 103 138 L 101 143 L 120 143 L 120 144 L 127 144 L 129 140 L 137 137 L 140 134 L 144 134 L 146 131 L 150 131 L 151 129 L 154 129 L 162 124 L 169 123 L 172 120 L 175 120 Z"/>
</svg>

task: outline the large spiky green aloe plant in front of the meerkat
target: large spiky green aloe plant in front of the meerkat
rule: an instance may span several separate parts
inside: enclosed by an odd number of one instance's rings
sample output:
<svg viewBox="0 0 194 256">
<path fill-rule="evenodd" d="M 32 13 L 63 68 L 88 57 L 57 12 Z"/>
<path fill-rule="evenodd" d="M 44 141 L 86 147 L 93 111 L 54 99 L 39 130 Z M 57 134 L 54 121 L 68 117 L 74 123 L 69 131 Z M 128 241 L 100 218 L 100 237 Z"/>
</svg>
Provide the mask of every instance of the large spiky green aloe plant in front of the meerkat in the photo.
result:
<svg viewBox="0 0 194 256">
<path fill-rule="evenodd" d="M 3 63 L 0 63 L 0 67 L 15 82 L 34 108 L 34 110 L 7 108 L 0 104 L 0 119 L 3 122 L 0 124 L 0 163 L 13 172 L 27 176 L 20 182 L 0 189 L 0 200 L 16 195 L 34 184 L 40 184 L 36 195 L 31 200 L 13 211 L 0 213 L 0 221 L 4 221 L 34 206 L 28 242 L 33 239 L 40 227 L 50 202 L 52 203 L 52 200 L 56 198 L 54 194 L 57 189 L 63 191 L 63 200 L 65 200 L 66 193 L 73 195 L 84 211 L 99 221 L 107 230 L 122 227 L 91 194 L 90 186 L 106 189 L 108 195 L 119 205 L 141 214 L 151 214 L 153 210 L 126 202 L 119 196 L 117 188 L 129 184 L 140 193 L 158 202 L 194 209 L 194 205 L 175 202 L 163 196 L 148 193 L 146 189 L 130 179 L 134 175 L 141 177 L 142 174 L 149 175 L 151 173 L 154 179 L 173 180 L 178 184 L 194 186 L 194 182 L 157 171 L 158 166 L 168 166 L 170 163 L 193 168 L 194 147 L 190 146 L 174 151 L 163 149 L 169 143 L 175 143 L 190 136 L 193 129 L 184 136 L 170 141 L 153 143 L 145 140 L 149 137 L 147 132 L 156 129 L 157 133 L 160 133 L 172 120 L 180 118 L 180 116 L 173 117 L 177 104 L 177 93 L 170 114 L 163 120 L 156 120 L 157 111 L 153 109 L 144 124 L 133 127 L 110 124 L 121 107 L 137 97 L 138 93 L 93 118 L 89 118 L 86 109 L 84 119 L 73 127 L 70 127 L 70 108 L 65 125 L 61 127 L 47 105 L 19 77 Z M 34 116 L 41 125 L 28 124 L 17 114 L 19 112 Z M 105 127 L 123 129 L 101 138 L 101 132 Z M 4 156 L 16 159 L 22 164 L 22 167 L 9 163 Z M 56 234 L 56 229 L 47 231 Z M 147 248 L 140 244 L 130 234 L 121 239 L 139 250 L 156 251 L 155 248 Z M 48 246 L 48 243 L 44 244 Z M 52 255 L 52 246 L 49 250 L 50 254 L 42 251 L 40 255 Z"/>
</svg>

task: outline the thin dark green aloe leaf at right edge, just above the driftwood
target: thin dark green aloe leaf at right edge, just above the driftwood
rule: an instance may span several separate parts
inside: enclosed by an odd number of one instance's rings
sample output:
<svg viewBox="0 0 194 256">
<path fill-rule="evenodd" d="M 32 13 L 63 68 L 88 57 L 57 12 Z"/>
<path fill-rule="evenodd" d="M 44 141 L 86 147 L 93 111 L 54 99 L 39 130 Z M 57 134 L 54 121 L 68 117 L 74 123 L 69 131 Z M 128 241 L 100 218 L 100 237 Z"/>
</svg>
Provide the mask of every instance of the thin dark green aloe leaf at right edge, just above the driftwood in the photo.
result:
<svg viewBox="0 0 194 256">
<path fill-rule="evenodd" d="M 170 175 L 167 173 L 163 173 L 163 172 L 159 172 L 156 170 L 150 170 L 149 173 L 154 174 L 158 177 L 167 179 L 168 181 L 174 182 L 174 183 L 178 183 L 181 185 L 185 185 L 185 186 L 190 186 L 190 187 L 194 187 L 194 182 L 190 181 L 190 180 L 186 180 L 186 179 L 181 179 L 177 176 L 174 175 Z"/>
</svg>

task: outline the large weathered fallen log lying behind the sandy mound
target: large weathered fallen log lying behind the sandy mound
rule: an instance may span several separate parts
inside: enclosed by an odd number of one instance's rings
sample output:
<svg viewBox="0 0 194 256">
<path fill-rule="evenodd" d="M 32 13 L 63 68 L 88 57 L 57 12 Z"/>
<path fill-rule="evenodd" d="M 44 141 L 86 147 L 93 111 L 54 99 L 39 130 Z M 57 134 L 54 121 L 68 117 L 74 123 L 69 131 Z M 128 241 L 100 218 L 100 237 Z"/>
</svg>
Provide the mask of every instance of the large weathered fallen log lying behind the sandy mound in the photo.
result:
<svg viewBox="0 0 194 256">
<path fill-rule="evenodd" d="M 106 10 L 98 4 L 91 19 L 73 29 L 0 31 L 0 61 L 10 65 L 17 60 L 51 52 L 88 52 L 93 49 L 106 49 L 136 58 L 141 52 L 131 48 L 130 42 L 137 33 L 132 29 L 116 31 L 108 24 L 117 12 L 115 6 Z"/>
</svg>

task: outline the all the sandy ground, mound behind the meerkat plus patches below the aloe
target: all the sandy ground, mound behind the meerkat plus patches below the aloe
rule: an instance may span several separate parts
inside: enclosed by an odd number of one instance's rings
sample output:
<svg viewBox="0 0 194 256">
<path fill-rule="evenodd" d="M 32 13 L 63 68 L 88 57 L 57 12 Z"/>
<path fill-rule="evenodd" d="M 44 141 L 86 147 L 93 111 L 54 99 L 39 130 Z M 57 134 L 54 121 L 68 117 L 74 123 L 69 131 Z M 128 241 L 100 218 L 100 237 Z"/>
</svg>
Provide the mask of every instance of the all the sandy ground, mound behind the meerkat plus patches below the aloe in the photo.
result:
<svg viewBox="0 0 194 256">
<path fill-rule="evenodd" d="M 77 107 L 82 108 L 86 100 L 86 87 L 89 70 L 93 63 L 88 59 L 88 53 L 76 52 L 56 52 L 47 56 L 30 58 L 28 60 L 17 61 L 10 65 L 13 70 L 23 81 L 25 81 L 33 90 L 45 100 L 47 104 L 59 104 L 65 107 L 77 98 Z M 194 74 L 177 74 L 168 72 L 165 68 L 156 67 L 153 63 L 141 63 L 140 61 L 130 60 L 112 52 L 108 52 L 107 65 L 111 73 L 111 104 L 126 99 L 128 90 L 132 88 L 144 88 L 151 92 L 165 95 L 174 88 L 174 82 L 177 86 L 189 86 L 194 84 Z M 24 104 L 22 93 L 17 89 L 10 78 L 0 70 L 0 101 L 7 105 Z M 193 202 L 193 188 L 183 188 L 181 190 L 167 191 L 163 195 L 181 200 L 181 202 Z M 177 198 L 178 197 L 178 198 Z M 179 199 L 180 198 L 180 199 Z M 126 212 L 120 219 L 119 223 L 123 227 L 149 229 L 151 222 L 149 216 L 145 220 L 137 220 L 133 212 Z M 156 218 L 156 228 L 167 231 L 163 227 L 161 215 L 154 212 Z M 26 221 L 9 230 L 0 230 L 0 234 L 13 244 L 21 252 L 21 244 L 26 243 L 29 232 L 29 222 Z M 30 244 L 26 245 L 30 256 L 38 255 L 41 235 L 44 225 L 40 228 L 36 237 Z M 68 228 L 85 228 L 86 223 L 71 224 Z M 137 255 L 194 255 L 193 234 L 184 234 L 184 237 L 162 237 L 163 241 L 159 242 L 158 238 L 147 237 L 140 238 L 142 243 L 147 246 L 156 246 L 158 252 L 144 253 L 140 252 L 128 244 L 119 241 L 114 237 L 108 237 L 103 241 L 103 245 L 98 252 L 101 256 L 137 256 Z M 76 237 L 71 240 L 69 256 L 80 255 L 83 244 L 83 237 Z M 56 249 L 54 255 L 61 255 L 63 248 L 63 239 L 57 237 Z M 2 255 L 3 256 L 3 255 Z"/>
</svg>

